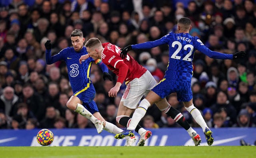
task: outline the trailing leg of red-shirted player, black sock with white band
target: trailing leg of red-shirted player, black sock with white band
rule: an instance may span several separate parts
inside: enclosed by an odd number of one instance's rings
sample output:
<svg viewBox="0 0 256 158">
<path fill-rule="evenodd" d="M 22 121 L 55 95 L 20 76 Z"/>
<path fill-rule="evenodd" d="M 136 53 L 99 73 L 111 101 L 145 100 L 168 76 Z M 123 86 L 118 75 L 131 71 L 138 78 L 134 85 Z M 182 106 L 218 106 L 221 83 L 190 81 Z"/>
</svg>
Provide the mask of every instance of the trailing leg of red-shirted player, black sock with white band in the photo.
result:
<svg viewBox="0 0 256 158">
<path fill-rule="evenodd" d="M 180 126 L 182 126 L 193 139 L 195 146 L 201 143 L 201 138 L 199 134 L 188 124 L 184 116 L 175 108 L 173 108 L 166 100 L 166 98 L 155 103 L 158 108 L 175 120 Z"/>
</svg>

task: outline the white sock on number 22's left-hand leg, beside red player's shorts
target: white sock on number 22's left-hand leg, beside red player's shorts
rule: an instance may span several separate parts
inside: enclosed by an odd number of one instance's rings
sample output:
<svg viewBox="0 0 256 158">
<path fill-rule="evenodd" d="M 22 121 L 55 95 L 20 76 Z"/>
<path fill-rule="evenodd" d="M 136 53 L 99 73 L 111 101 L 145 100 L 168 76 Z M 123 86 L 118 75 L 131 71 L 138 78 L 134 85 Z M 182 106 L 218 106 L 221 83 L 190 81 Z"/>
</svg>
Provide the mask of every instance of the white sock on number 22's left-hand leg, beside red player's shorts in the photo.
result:
<svg viewBox="0 0 256 158">
<path fill-rule="evenodd" d="M 148 102 L 148 100 L 143 99 L 140 102 L 140 105 L 138 108 L 136 108 L 136 110 L 134 111 L 133 115 L 132 115 L 132 120 L 129 124 L 129 127 L 127 127 L 127 130 L 135 130 L 136 126 L 138 125 L 138 123 L 140 122 L 140 120 L 145 116 L 148 107 L 150 107 L 150 103 Z"/>
</svg>

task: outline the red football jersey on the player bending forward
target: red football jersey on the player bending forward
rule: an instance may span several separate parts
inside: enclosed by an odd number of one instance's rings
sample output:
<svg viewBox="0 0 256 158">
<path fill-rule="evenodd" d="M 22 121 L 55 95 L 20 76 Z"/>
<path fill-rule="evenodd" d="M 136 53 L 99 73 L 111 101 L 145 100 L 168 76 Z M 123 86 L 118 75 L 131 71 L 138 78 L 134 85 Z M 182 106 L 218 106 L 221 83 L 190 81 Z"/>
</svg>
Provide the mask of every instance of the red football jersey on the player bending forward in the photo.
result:
<svg viewBox="0 0 256 158">
<path fill-rule="evenodd" d="M 126 78 L 124 79 L 125 82 L 131 81 L 134 78 L 140 78 L 147 69 L 140 65 L 134 58 L 132 58 L 129 54 L 125 59 L 120 57 L 120 48 L 111 43 L 103 43 L 102 44 L 104 50 L 102 52 L 101 58 L 102 62 L 108 67 L 109 70 L 114 72 L 117 76 L 119 73 L 118 68 L 116 68 L 116 64 L 118 62 L 124 62 L 128 66 L 128 72 Z"/>
</svg>

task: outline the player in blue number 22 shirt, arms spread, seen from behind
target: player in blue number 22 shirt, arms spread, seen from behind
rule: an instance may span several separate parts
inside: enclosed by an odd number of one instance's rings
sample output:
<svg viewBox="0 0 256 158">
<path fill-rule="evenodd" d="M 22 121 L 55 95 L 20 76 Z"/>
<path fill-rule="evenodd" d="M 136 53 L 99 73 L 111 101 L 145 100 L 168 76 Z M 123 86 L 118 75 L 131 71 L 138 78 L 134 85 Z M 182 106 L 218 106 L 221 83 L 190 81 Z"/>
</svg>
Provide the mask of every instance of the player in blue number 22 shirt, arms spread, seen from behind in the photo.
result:
<svg viewBox="0 0 256 158">
<path fill-rule="evenodd" d="M 167 66 L 165 76 L 148 93 L 146 98 L 140 102 L 139 108 L 135 110 L 127 130 L 135 129 L 140 119 L 145 115 L 148 107 L 162 98 L 165 98 L 169 94 L 176 92 L 178 100 L 183 102 L 186 110 L 190 112 L 196 122 L 202 127 L 208 145 L 212 145 L 214 141 L 212 131 L 208 128 L 200 111 L 192 102 L 191 78 L 193 74 L 192 60 L 194 57 L 194 51 L 199 50 L 210 58 L 216 59 L 243 58 L 245 56 L 245 52 L 236 52 L 234 54 L 214 52 L 204 46 L 197 36 L 190 36 L 189 31 L 191 28 L 190 19 L 183 17 L 180 18 L 177 24 L 178 34 L 170 32 L 158 40 L 129 45 L 122 49 L 120 56 L 122 58 L 126 58 L 127 52 L 132 49 L 148 49 L 161 44 L 169 45 L 169 64 Z"/>
</svg>

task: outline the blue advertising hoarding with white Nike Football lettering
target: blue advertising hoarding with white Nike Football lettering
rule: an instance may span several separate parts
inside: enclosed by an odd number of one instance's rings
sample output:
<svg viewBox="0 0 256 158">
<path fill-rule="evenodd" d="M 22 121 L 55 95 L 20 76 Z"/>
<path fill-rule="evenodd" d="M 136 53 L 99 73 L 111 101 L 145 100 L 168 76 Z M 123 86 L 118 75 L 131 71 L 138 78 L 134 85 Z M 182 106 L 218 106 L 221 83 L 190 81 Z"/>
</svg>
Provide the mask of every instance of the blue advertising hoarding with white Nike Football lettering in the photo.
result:
<svg viewBox="0 0 256 158">
<path fill-rule="evenodd" d="M 200 134 L 201 146 L 207 146 L 201 128 L 194 128 Z M 96 129 L 50 129 L 54 141 L 50 146 L 124 146 L 126 140 L 116 140 L 114 134 Z M 37 130 L 0 130 L 0 146 L 40 146 L 36 141 Z M 152 136 L 145 146 L 194 146 L 186 130 L 183 128 L 151 129 Z M 212 129 L 214 146 L 239 146 L 240 139 L 250 144 L 256 140 L 256 128 L 218 128 Z M 136 135 L 136 143 L 139 135 Z M 136 145 L 134 143 L 134 146 Z"/>
</svg>

